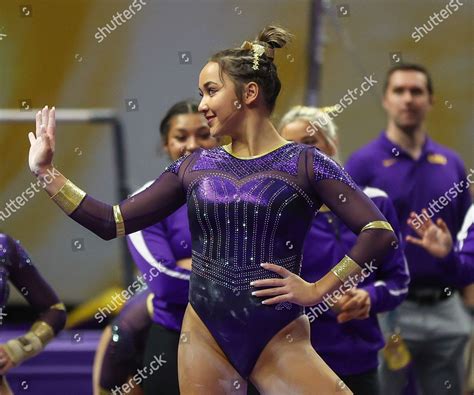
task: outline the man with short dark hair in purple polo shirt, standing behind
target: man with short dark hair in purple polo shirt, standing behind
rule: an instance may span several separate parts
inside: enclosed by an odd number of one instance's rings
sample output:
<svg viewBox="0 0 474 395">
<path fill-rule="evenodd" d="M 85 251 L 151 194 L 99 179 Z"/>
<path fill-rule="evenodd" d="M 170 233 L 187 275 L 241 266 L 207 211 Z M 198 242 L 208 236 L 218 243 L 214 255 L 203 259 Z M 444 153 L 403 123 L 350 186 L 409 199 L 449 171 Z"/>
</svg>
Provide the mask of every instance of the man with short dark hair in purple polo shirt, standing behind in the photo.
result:
<svg viewBox="0 0 474 395">
<path fill-rule="evenodd" d="M 464 164 L 452 150 L 427 135 L 424 120 L 433 103 L 427 70 L 397 65 L 389 70 L 383 107 L 388 126 L 380 136 L 356 151 L 346 164 L 359 185 L 383 189 L 397 210 L 402 234 L 414 235 L 408 224 L 421 226 L 428 218 L 442 218 L 452 234 L 461 229 L 471 204 Z M 422 211 L 426 209 L 426 211 Z M 470 322 L 456 287 L 456 262 L 443 261 L 409 243 L 405 254 L 411 274 L 407 300 L 397 309 L 397 326 L 413 360 L 417 384 L 426 394 L 460 394 L 462 351 Z M 382 369 L 382 393 L 399 394 L 403 383 Z M 399 377 L 398 377 L 399 378 Z"/>
</svg>

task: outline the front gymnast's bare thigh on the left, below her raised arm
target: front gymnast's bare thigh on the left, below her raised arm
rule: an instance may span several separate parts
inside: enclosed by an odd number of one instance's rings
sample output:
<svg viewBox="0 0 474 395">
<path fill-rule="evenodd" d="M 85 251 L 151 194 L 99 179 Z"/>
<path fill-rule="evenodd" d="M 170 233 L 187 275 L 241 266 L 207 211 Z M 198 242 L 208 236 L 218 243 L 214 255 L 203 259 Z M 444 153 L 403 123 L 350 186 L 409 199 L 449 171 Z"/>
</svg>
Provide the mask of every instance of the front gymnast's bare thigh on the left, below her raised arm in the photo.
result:
<svg viewBox="0 0 474 395">
<path fill-rule="evenodd" d="M 245 395 L 247 383 L 227 360 L 190 304 L 178 346 L 181 395 Z"/>
</svg>

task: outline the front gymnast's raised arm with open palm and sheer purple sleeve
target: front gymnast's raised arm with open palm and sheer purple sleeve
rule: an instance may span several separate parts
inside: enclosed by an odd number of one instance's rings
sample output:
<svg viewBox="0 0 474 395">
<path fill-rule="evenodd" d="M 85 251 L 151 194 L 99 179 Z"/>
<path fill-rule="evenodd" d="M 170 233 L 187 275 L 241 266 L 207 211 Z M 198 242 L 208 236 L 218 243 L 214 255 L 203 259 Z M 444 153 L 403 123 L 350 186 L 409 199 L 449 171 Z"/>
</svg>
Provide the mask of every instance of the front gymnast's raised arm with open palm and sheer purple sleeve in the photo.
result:
<svg viewBox="0 0 474 395">
<path fill-rule="evenodd" d="M 114 206 L 88 196 L 52 164 L 55 149 L 55 110 L 36 114 L 36 135 L 30 140 L 29 166 L 51 199 L 76 222 L 104 240 L 133 233 L 161 221 L 186 200 L 180 169 L 182 157 L 147 189 Z"/>
</svg>

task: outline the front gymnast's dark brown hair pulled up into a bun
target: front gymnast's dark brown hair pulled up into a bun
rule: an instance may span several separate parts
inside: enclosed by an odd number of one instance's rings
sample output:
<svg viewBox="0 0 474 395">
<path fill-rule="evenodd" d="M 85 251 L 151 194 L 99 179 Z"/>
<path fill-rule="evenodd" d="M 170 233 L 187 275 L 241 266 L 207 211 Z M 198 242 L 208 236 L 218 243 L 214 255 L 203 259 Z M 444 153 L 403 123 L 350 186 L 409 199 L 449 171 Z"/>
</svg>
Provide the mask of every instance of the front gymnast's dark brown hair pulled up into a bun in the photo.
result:
<svg viewBox="0 0 474 395">
<path fill-rule="evenodd" d="M 265 27 L 252 42 L 266 48 L 283 48 L 292 38 L 290 32 L 279 26 Z M 231 48 L 219 51 L 211 56 L 210 62 L 220 66 L 220 74 L 226 73 L 236 86 L 236 94 L 242 100 L 243 85 L 254 81 L 262 90 L 265 104 L 270 112 L 273 111 L 276 99 L 281 89 L 281 82 L 273 58 L 263 54 L 259 58 L 258 69 L 252 68 L 254 56 L 252 49 Z"/>
</svg>

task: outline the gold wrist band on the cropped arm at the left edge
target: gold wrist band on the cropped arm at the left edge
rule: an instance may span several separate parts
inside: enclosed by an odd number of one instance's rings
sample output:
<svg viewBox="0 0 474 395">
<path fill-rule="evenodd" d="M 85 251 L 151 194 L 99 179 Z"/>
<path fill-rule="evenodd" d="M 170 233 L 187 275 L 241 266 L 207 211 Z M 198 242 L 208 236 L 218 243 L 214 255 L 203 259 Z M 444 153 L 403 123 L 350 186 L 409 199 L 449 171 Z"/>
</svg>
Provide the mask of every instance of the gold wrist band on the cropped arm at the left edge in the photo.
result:
<svg viewBox="0 0 474 395">
<path fill-rule="evenodd" d="M 9 340 L 5 352 L 16 365 L 39 354 L 54 338 L 53 328 L 44 321 L 36 321 L 30 331 L 16 339 Z"/>
</svg>

